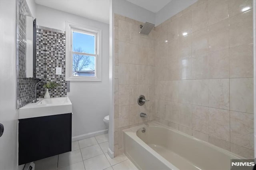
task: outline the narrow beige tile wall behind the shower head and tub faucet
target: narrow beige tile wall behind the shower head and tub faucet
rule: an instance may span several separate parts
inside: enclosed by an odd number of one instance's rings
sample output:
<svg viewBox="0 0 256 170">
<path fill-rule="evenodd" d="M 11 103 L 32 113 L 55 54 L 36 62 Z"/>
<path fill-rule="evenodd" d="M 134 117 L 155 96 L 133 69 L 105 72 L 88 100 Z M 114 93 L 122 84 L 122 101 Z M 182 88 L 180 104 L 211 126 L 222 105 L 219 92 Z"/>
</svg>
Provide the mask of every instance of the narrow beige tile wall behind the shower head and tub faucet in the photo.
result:
<svg viewBox="0 0 256 170">
<path fill-rule="evenodd" d="M 155 31 L 139 34 L 140 23 L 114 15 L 114 155 L 123 152 L 122 130 L 154 120 Z M 150 101 L 139 106 L 144 95 Z M 148 118 L 141 118 L 146 113 Z"/>
</svg>

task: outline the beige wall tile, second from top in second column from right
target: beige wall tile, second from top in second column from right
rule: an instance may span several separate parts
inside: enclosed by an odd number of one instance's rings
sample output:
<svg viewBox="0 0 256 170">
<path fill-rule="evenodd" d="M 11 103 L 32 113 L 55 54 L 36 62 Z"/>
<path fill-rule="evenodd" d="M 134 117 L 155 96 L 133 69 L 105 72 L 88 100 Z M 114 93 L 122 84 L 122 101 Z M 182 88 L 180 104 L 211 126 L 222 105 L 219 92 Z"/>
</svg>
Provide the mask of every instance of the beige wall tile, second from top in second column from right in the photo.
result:
<svg viewBox="0 0 256 170">
<path fill-rule="evenodd" d="M 209 51 L 217 51 L 220 49 L 228 48 L 228 35 L 229 23 L 228 20 L 224 20 L 212 26 L 209 26 Z"/>
</svg>

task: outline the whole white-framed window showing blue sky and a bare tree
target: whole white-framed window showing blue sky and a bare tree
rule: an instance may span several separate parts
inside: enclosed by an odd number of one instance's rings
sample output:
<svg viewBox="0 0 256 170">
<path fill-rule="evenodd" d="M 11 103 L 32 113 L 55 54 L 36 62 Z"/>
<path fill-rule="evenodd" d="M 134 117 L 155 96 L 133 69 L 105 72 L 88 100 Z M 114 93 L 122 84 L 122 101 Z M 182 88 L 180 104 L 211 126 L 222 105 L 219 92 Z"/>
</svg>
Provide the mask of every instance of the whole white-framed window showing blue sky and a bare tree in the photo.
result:
<svg viewBox="0 0 256 170">
<path fill-rule="evenodd" d="M 66 81 L 101 81 L 101 30 L 66 22 Z"/>
</svg>

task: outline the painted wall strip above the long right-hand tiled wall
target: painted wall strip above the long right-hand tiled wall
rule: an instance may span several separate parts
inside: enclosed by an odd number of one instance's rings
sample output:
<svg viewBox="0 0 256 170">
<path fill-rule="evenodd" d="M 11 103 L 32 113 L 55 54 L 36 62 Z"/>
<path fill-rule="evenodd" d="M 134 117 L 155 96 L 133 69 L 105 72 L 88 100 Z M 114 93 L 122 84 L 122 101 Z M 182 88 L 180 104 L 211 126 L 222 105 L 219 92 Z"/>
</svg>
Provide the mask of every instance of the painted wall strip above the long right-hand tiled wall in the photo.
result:
<svg viewBox="0 0 256 170">
<path fill-rule="evenodd" d="M 178 12 L 186 9 L 188 6 L 194 4 L 197 0 L 172 0 L 160 11 L 156 12 L 156 26 L 168 20 Z"/>
</svg>

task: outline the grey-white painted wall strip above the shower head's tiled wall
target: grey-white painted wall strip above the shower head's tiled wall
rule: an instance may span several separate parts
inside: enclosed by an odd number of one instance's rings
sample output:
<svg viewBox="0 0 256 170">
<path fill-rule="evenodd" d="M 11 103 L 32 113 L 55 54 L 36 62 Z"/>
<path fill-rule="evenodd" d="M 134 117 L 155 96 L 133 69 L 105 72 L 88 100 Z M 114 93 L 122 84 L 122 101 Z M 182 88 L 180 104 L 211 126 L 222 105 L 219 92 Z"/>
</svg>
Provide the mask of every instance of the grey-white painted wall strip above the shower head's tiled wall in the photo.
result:
<svg viewBox="0 0 256 170">
<path fill-rule="evenodd" d="M 132 18 L 140 22 L 155 24 L 155 13 L 126 0 L 112 0 L 113 13 Z"/>
</svg>

